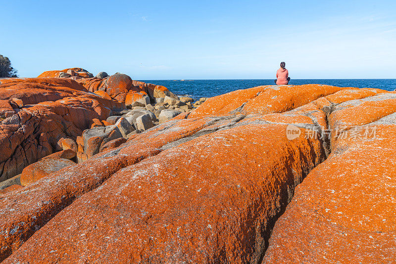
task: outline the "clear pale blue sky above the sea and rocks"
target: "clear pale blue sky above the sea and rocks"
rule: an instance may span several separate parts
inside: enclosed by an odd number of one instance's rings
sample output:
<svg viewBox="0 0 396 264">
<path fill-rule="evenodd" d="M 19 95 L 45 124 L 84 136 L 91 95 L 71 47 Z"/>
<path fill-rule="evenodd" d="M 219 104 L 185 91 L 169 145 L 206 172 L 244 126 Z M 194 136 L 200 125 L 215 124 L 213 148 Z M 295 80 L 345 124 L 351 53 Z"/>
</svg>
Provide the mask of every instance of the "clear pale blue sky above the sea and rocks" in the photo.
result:
<svg viewBox="0 0 396 264">
<path fill-rule="evenodd" d="M 82 67 L 135 80 L 396 78 L 396 0 L 0 0 L 20 77 Z"/>
</svg>

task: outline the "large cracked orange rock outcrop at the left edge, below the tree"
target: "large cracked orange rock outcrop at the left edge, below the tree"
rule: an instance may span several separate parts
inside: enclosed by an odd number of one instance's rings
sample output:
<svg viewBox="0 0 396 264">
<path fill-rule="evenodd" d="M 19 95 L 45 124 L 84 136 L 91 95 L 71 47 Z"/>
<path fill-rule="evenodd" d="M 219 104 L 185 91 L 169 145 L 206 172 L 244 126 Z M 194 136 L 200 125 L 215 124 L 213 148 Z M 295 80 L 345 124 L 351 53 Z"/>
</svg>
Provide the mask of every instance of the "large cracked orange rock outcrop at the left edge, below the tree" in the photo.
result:
<svg viewBox="0 0 396 264">
<path fill-rule="evenodd" d="M 15 99 L 22 101 L 21 108 Z M 74 139 L 94 118 L 106 119 L 111 109 L 120 108 L 124 105 L 96 96 L 71 79 L 1 79 L 0 181 L 51 154 L 60 138 Z"/>
</svg>

